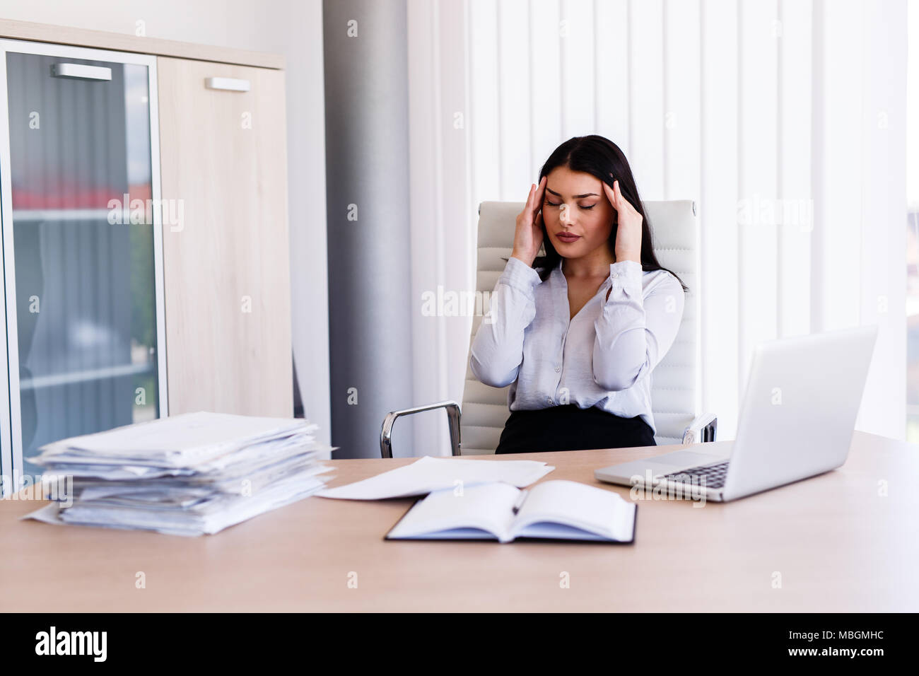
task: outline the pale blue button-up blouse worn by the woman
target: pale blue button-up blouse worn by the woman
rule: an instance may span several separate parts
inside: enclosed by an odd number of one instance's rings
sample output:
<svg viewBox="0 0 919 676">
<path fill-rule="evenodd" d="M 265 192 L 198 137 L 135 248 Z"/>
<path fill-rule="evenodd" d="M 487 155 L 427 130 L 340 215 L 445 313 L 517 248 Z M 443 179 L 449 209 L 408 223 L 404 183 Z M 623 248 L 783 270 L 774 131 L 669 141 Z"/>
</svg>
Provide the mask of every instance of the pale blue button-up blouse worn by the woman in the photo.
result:
<svg viewBox="0 0 919 676">
<path fill-rule="evenodd" d="M 472 340 L 472 373 L 492 387 L 509 384 L 512 411 L 596 406 L 622 418 L 641 416 L 656 434 L 651 375 L 676 338 L 683 294 L 666 270 L 644 272 L 640 263 L 621 260 L 569 321 L 562 261 L 541 281 L 536 269 L 511 257 Z"/>
</svg>

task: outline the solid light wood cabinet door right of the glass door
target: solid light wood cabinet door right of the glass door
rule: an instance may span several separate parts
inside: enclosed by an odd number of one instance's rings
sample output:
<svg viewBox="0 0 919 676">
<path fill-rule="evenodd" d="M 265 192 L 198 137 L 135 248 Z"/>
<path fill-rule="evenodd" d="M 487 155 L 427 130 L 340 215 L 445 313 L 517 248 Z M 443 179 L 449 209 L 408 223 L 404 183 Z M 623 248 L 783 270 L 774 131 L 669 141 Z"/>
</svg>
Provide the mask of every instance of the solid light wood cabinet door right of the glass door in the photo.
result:
<svg viewBox="0 0 919 676">
<path fill-rule="evenodd" d="M 165 57 L 157 71 L 170 413 L 289 417 L 283 73 Z"/>
</svg>

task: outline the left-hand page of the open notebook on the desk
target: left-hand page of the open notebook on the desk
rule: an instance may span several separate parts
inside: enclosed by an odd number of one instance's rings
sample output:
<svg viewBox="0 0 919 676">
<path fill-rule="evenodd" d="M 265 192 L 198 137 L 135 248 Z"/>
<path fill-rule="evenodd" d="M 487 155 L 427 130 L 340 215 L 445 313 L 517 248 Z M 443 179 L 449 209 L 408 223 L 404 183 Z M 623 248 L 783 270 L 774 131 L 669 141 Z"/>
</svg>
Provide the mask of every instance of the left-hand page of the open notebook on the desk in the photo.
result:
<svg viewBox="0 0 919 676">
<path fill-rule="evenodd" d="M 480 528 L 502 542 L 514 521 L 519 489 L 500 482 L 436 490 L 414 504 L 390 531 L 389 538 L 437 537 L 437 533 Z"/>
</svg>

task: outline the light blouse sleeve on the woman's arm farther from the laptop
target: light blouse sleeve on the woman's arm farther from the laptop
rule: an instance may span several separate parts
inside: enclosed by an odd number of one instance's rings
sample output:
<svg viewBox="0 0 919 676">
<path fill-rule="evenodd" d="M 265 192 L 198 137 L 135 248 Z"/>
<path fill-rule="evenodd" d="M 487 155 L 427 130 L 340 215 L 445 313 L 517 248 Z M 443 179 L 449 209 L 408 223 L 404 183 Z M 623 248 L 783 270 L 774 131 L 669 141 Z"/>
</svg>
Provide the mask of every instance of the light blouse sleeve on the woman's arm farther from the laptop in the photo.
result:
<svg viewBox="0 0 919 676">
<path fill-rule="evenodd" d="M 524 331 L 536 317 L 539 272 L 519 258 L 508 258 L 494 285 L 491 310 L 472 340 L 470 367 L 473 375 L 492 387 L 505 387 L 516 380 L 523 361 Z"/>
</svg>

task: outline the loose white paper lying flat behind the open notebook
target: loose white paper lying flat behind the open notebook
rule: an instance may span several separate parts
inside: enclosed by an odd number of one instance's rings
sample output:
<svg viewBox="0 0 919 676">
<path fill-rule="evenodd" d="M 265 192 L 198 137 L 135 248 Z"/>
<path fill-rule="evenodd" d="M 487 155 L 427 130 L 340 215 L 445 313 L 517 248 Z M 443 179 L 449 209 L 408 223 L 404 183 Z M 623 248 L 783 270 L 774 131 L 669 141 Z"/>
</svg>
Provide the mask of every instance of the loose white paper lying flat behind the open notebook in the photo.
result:
<svg viewBox="0 0 919 676">
<path fill-rule="evenodd" d="M 427 495 L 432 490 L 452 488 L 461 482 L 471 486 L 489 481 L 504 481 L 518 488 L 527 487 L 548 475 L 555 467 L 536 460 L 457 460 L 425 455 L 412 464 L 335 488 L 324 488 L 321 498 L 379 500 Z"/>
</svg>

